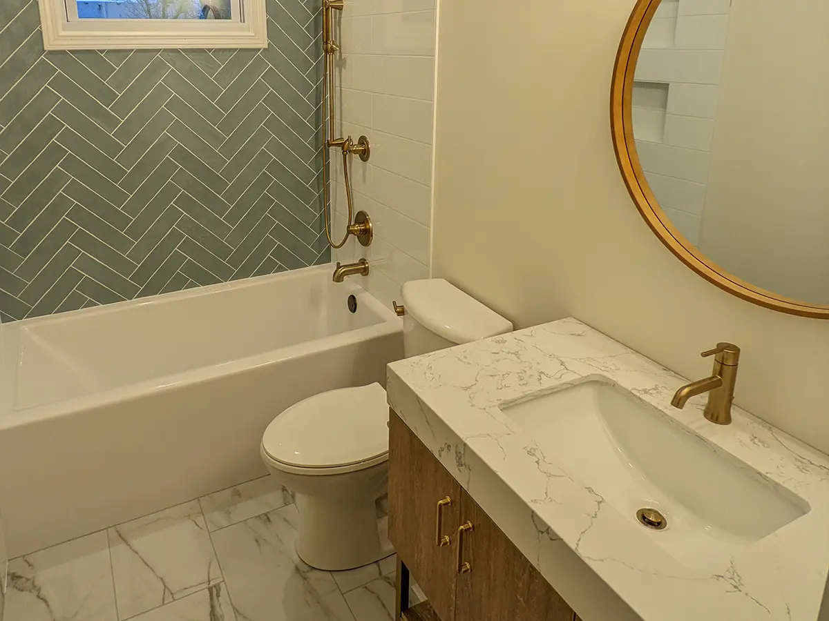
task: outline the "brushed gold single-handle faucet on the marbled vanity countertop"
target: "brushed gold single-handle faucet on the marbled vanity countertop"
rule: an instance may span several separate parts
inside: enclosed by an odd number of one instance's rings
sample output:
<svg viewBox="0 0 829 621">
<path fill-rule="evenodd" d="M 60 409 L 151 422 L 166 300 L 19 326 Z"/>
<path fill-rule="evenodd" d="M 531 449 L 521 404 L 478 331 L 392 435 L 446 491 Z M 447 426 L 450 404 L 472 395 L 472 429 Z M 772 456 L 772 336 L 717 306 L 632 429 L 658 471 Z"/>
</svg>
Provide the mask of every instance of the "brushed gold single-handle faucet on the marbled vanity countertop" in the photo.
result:
<svg viewBox="0 0 829 621">
<path fill-rule="evenodd" d="M 702 357 L 715 356 L 714 373 L 710 378 L 691 382 L 676 391 L 671 405 L 682 409 L 691 397 L 710 392 L 705 418 L 717 425 L 731 424 L 731 402 L 734 401 L 734 384 L 737 383 L 739 347 L 731 343 L 718 343 L 715 349 L 702 352 Z"/>
</svg>

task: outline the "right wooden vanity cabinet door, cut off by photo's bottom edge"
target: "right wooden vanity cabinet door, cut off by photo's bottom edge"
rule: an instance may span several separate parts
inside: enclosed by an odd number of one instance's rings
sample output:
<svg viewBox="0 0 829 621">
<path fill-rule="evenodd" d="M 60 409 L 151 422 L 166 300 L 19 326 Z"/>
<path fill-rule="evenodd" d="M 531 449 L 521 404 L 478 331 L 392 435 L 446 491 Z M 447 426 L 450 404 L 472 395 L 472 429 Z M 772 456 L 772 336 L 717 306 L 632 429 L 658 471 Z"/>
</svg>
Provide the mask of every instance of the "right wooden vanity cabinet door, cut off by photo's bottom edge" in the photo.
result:
<svg viewBox="0 0 829 621">
<path fill-rule="evenodd" d="M 455 621 L 573 621 L 574 612 L 515 545 L 463 493 L 461 519 L 472 524 L 456 546 Z M 459 565 L 459 566 L 458 566 Z"/>
</svg>

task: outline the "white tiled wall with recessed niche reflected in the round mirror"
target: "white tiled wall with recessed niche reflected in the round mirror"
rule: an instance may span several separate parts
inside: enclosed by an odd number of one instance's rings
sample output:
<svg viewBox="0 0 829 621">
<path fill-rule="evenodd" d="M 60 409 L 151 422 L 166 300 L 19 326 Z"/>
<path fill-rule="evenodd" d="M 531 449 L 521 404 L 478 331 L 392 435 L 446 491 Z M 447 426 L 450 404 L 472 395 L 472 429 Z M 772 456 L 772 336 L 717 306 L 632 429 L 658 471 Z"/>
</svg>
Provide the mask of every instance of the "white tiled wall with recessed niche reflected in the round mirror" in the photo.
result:
<svg viewBox="0 0 829 621">
<path fill-rule="evenodd" d="M 664 0 L 636 68 L 639 161 L 662 209 L 694 244 L 700 243 L 729 11 L 730 0 Z"/>
</svg>

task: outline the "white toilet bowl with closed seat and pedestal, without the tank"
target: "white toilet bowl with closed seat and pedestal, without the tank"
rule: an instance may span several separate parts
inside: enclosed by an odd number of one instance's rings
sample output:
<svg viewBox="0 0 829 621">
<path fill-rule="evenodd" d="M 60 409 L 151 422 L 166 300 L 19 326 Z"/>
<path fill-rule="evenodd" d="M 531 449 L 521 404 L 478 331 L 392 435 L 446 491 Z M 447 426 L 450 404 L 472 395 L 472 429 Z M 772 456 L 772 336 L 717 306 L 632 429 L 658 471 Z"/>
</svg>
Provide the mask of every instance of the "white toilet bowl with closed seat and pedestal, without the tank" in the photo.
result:
<svg viewBox="0 0 829 621">
<path fill-rule="evenodd" d="M 347 570 L 394 552 L 376 513 L 388 487 L 388 420 L 385 390 L 374 383 L 309 397 L 264 432 L 262 459 L 295 493 L 297 552 L 308 565 Z"/>
</svg>

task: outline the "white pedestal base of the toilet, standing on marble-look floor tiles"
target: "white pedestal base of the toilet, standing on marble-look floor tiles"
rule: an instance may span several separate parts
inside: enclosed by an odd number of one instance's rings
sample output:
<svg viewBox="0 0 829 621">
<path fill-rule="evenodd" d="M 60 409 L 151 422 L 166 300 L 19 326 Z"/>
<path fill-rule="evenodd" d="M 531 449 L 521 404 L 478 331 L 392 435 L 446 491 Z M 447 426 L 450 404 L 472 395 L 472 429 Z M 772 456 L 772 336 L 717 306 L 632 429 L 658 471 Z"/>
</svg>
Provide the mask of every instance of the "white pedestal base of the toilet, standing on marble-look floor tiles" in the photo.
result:
<svg viewBox="0 0 829 621">
<path fill-rule="evenodd" d="M 341 571 L 371 565 L 395 550 L 378 525 L 376 498 L 307 496 L 297 493 L 297 553 L 319 570 Z"/>
</svg>

